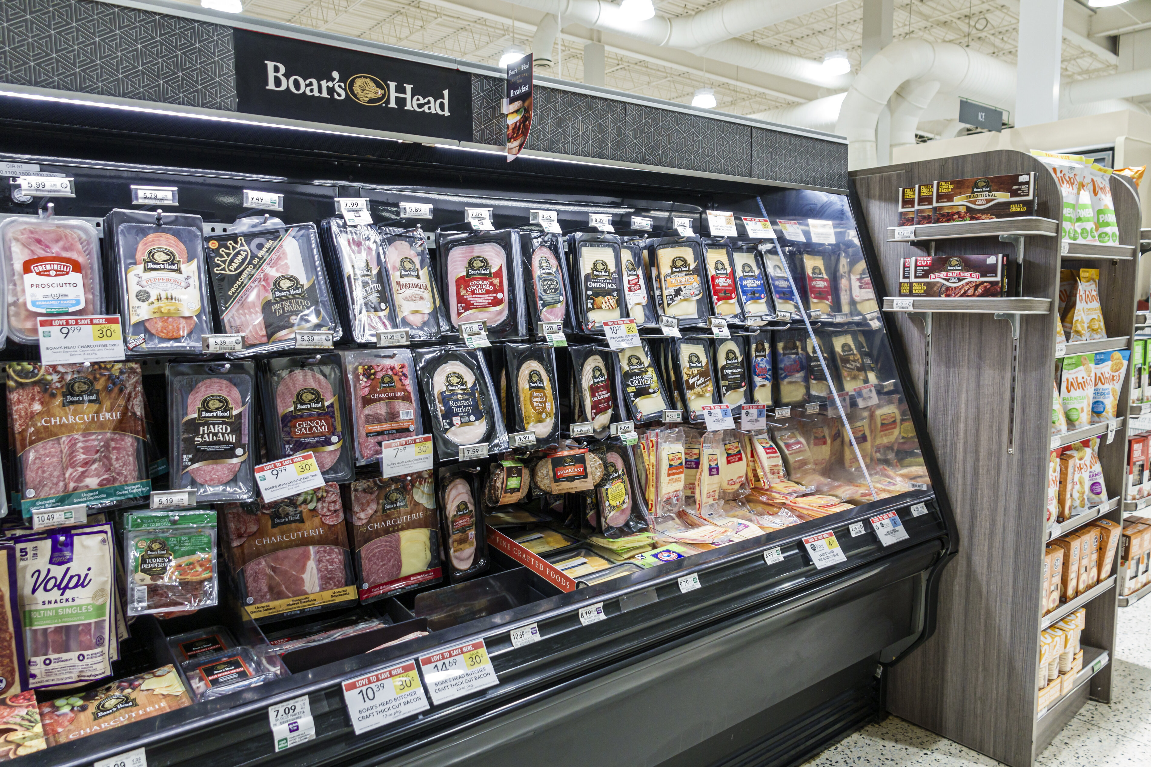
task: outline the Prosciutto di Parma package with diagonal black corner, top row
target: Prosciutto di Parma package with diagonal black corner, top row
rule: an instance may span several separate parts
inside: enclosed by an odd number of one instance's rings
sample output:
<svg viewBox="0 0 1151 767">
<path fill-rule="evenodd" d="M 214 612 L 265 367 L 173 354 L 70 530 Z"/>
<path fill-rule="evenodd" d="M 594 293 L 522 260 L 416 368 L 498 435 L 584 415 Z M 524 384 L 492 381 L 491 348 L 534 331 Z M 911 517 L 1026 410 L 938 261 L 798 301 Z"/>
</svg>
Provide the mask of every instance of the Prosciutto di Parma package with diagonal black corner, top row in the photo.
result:
<svg viewBox="0 0 1151 767">
<path fill-rule="evenodd" d="M 296 331 L 342 329 L 331 308 L 314 224 L 243 218 L 205 237 L 216 310 L 226 333 L 241 333 L 251 355 L 296 347 Z"/>
</svg>

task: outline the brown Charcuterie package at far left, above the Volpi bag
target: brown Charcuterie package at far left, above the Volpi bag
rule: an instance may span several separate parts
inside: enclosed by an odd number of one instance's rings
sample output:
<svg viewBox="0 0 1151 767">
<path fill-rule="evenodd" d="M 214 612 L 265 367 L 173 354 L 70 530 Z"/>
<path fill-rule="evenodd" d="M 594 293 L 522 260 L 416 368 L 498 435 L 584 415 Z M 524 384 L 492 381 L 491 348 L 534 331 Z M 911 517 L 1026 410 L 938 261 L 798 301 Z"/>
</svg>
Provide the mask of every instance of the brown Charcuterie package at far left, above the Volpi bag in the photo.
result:
<svg viewBox="0 0 1151 767">
<path fill-rule="evenodd" d="M 8 424 L 25 516 L 146 498 L 144 391 L 137 362 L 9 362 Z"/>
</svg>

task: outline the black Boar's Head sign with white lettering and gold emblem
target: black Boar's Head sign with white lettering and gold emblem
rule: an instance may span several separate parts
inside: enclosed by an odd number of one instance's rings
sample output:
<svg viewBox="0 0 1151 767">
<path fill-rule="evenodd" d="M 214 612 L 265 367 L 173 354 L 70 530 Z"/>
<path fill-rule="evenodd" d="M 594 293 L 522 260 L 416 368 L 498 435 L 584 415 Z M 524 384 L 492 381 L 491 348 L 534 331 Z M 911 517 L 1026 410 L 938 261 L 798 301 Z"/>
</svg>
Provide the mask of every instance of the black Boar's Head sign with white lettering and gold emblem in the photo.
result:
<svg viewBox="0 0 1151 767">
<path fill-rule="evenodd" d="M 472 140 L 467 72 L 233 30 L 237 112 Z"/>
</svg>

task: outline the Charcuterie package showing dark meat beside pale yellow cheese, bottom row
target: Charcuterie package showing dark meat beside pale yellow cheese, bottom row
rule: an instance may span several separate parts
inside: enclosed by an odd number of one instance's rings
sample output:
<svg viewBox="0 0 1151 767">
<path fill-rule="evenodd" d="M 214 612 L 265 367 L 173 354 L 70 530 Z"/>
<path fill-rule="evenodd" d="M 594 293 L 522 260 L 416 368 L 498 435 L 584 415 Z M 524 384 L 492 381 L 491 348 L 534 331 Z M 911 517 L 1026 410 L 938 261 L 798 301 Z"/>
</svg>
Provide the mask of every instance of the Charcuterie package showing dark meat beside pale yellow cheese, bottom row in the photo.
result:
<svg viewBox="0 0 1151 767">
<path fill-rule="evenodd" d="M 443 580 L 432 469 L 351 483 L 349 519 L 360 601 Z"/>
</svg>

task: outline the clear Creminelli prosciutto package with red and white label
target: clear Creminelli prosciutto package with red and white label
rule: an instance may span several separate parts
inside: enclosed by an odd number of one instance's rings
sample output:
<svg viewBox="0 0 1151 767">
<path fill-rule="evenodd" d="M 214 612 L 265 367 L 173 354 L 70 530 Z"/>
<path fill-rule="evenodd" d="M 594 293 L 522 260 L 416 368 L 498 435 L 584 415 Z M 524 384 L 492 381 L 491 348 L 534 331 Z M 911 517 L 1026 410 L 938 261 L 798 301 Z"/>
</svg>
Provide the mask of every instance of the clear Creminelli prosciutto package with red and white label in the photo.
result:
<svg viewBox="0 0 1151 767">
<path fill-rule="evenodd" d="M 86 221 L 13 216 L 0 222 L 8 337 L 36 344 L 37 321 L 104 314 L 100 239 Z"/>
</svg>

